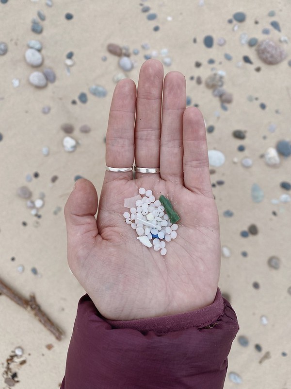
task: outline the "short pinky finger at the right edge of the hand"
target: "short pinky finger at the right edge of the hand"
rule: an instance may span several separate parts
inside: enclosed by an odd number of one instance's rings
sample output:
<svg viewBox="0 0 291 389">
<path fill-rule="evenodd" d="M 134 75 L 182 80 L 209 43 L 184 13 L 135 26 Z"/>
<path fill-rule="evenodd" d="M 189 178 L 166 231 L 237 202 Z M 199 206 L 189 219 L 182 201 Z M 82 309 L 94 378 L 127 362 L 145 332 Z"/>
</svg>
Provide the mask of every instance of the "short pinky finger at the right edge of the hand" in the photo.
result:
<svg viewBox="0 0 291 389">
<path fill-rule="evenodd" d="M 202 113 L 189 107 L 183 115 L 184 185 L 190 191 L 213 198 L 208 148 Z"/>
</svg>

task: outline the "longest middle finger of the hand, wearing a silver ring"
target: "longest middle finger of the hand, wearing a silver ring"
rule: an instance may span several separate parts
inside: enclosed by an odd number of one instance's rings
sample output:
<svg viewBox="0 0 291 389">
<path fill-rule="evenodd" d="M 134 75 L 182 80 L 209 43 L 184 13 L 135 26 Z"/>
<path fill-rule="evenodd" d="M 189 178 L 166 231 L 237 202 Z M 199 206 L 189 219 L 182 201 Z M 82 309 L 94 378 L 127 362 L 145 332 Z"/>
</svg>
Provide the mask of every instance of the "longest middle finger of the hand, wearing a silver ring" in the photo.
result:
<svg viewBox="0 0 291 389">
<path fill-rule="evenodd" d="M 148 59 L 141 67 L 137 88 L 135 164 L 138 167 L 160 167 L 162 84 L 162 63 Z M 136 173 L 137 178 L 141 176 L 142 173 Z"/>
</svg>

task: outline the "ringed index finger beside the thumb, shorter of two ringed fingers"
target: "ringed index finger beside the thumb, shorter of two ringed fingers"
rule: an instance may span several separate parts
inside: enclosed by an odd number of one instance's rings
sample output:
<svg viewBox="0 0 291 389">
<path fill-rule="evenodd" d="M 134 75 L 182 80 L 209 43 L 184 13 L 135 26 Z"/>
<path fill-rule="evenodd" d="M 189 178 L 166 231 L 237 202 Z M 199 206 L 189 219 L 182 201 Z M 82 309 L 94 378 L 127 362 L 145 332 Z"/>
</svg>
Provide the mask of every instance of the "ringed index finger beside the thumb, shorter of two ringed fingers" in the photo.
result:
<svg viewBox="0 0 291 389">
<path fill-rule="evenodd" d="M 128 168 L 134 161 L 134 119 L 136 86 L 132 80 L 120 80 L 116 85 L 109 112 L 106 133 L 106 165 Z M 105 180 L 132 179 L 132 172 L 106 171 Z"/>
</svg>

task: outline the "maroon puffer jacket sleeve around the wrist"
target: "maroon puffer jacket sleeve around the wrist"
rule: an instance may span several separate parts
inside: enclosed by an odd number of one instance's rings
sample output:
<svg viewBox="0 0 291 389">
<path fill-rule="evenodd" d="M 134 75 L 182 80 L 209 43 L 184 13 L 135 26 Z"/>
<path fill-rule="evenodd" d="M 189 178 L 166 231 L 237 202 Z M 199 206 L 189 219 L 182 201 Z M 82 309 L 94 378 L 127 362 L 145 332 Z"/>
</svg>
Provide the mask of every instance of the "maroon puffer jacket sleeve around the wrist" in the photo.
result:
<svg viewBox="0 0 291 389">
<path fill-rule="evenodd" d="M 239 330 L 230 303 L 160 318 L 103 318 L 88 295 L 78 305 L 61 389 L 222 389 Z"/>
</svg>

